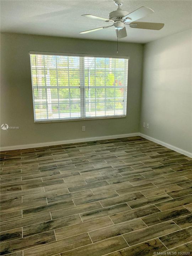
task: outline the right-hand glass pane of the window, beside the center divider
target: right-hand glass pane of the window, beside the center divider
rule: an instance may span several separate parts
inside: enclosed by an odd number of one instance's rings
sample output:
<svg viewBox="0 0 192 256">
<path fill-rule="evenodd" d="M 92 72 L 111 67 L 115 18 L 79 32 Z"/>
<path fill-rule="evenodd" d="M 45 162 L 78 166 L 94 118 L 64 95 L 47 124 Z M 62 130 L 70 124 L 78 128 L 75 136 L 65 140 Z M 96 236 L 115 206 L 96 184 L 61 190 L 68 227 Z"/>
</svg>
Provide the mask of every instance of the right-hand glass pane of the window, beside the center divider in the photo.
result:
<svg viewBox="0 0 192 256">
<path fill-rule="evenodd" d="M 85 58 L 86 117 L 125 116 L 127 59 Z"/>
</svg>

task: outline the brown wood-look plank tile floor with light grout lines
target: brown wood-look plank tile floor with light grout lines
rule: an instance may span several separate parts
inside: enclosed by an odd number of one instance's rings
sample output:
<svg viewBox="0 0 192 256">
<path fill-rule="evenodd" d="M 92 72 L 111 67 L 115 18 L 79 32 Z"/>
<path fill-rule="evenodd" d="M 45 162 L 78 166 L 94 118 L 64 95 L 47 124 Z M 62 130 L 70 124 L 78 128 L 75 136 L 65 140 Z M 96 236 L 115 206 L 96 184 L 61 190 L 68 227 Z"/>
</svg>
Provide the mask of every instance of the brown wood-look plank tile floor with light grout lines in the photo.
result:
<svg viewBox="0 0 192 256">
<path fill-rule="evenodd" d="M 192 252 L 192 159 L 141 137 L 1 153 L 1 255 Z"/>
</svg>

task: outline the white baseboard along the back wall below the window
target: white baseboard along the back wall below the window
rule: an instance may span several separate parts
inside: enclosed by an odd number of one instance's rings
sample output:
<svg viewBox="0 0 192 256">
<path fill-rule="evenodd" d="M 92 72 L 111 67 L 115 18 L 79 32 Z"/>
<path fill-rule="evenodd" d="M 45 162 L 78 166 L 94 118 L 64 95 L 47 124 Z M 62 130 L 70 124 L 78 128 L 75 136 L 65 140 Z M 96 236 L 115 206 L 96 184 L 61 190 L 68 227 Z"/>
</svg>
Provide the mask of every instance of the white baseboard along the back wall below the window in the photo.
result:
<svg viewBox="0 0 192 256">
<path fill-rule="evenodd" d="M 95 140 L 118 139 L 118 138 L 126 138 L 126 137 L 133 137 L 133 136 L 139 136 L 139 133 L 126 133 L 126 134 L 116 134 L 116 135 L 109 135 L 109 136 L 90 137 L 90 138 L 81 138 L 81 139 L 72 139 L 72 140 L 60 140 L 55 142 L 42 142 L 42 143 L 16 145 L 16 146 L 5 146 L 5 147 L 1 147 L 1 151 L 27 149 L 27 148 L 39 148 L 43 146 L 54 146 L 54 145 L 88 142 L 88 141 L 95 141 Z"/>
</svg>

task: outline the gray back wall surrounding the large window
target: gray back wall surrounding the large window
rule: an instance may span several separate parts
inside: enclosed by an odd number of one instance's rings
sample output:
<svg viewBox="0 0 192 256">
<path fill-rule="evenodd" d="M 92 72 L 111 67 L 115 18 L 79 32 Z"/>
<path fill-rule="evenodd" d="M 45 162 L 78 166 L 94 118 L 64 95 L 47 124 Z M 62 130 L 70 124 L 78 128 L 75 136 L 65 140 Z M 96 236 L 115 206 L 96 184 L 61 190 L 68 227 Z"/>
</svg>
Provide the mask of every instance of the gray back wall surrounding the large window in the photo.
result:
<svg viewBox="0 0 192 256">
<path fill-rule="evenodd" d="M 1 34 L 1 146 L 139 132 L 143 45 L 119 43 L 129 55 L 127 117 L 34 124 L 29 50 L 116 55 L 116 42 Z M 82 126 L 86 131 L 82 132 Z"/>
</svg>

